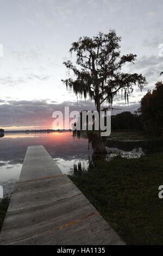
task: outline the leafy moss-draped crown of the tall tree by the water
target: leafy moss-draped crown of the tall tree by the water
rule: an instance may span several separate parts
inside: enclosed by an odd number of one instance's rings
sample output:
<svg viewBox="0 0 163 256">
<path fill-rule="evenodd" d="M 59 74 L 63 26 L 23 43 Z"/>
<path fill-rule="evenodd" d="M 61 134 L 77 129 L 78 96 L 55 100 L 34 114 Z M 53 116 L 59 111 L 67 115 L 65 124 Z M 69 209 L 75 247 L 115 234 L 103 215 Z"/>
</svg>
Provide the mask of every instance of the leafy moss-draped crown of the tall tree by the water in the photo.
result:
<svg viewBox="0 0 163 256">
<path fill-rule="evenodd" d="M 64 62 L 68 70 L 72 70 L 76 78 L 62 80 L 66 87 L 72 88 L 76 95 L 89 97 L 95 102 L 98 112 L 104 102 L 112 105 L 114 97 L 121 90 L 128 102 L 129 95 L 133 92 L 133 86 L 142 89 L 146 79 L 142 75 L 122 72 L 126 63 L 134 63 L 135 54 L 121 56 L 121 37 L 114 30 L 108 34 L 99 32 L 93 38 L 80 37 L 72 43 L 70 52 L 76 53 L 76 65 L 68 60 Z"/>
</svg>

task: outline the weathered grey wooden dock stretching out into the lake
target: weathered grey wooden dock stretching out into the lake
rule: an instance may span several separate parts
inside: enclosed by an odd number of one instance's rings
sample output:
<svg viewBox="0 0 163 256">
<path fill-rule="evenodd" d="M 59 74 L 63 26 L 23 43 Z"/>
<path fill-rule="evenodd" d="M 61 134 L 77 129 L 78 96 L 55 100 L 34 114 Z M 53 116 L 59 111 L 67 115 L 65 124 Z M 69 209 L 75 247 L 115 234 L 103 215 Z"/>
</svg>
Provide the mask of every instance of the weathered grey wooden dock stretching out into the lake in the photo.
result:
<svg viewBox="0 0 163 256">
<path fill-rule="evenodd" d="M 28 147 L 0 245 L 125 245 L 43 146 Z"/>
</svg>

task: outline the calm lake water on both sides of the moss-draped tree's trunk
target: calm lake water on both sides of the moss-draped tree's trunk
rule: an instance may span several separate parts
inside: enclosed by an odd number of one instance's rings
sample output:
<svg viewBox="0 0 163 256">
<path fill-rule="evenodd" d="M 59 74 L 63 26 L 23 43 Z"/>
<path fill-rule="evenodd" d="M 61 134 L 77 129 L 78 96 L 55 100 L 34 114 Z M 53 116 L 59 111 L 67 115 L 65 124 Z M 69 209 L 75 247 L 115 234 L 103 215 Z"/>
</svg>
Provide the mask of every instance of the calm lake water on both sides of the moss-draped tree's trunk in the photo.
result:
<svg viewBox="0 0 163 256">
<path fill-rule="evenodd" d="M 53 133 L 13 133 L 0 138 L 0 185 L 4 194 L 10 194 L 18 180 L 28 146 L 43 145 L 64 174 L 73 174 L 73 165 L 79 161 L 87 168 L 92 149 L 88 149 L 85 138 L 73 139 L 72 132 Z M 112 160 L 116 155 L 137 158 L 141 155 L 163 152 L 162 141 L 105 141 L 108 155 Z"/>
</svg>

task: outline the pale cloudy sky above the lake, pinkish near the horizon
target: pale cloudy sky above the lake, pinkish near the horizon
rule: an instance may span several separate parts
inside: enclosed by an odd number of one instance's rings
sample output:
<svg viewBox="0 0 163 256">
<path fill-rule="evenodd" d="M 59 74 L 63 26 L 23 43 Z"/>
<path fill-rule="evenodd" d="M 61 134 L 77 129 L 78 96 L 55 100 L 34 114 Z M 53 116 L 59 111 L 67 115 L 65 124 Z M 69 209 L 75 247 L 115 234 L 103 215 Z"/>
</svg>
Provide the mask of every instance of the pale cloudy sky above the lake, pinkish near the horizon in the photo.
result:
<svg viewBox="0 0 163 256">
<path fill-rule="evenodd" d="M 142 92 L 135 87 L 129 106 L 121 97 L 114 101 L 113 107 L 134 112 L 161 80 L 162 8 L 162 0 L 0 0 L 0 126 L 51 129 L 54 111 L 95 109 L 89 99 L 77 105 L 76 95 L 66 90 L 62 63 L 71 59 L 73 41 L 109 29 L 122 37 L 122 54 L 137 54 L 126 71 L 148 82 Z"/>
</svg>

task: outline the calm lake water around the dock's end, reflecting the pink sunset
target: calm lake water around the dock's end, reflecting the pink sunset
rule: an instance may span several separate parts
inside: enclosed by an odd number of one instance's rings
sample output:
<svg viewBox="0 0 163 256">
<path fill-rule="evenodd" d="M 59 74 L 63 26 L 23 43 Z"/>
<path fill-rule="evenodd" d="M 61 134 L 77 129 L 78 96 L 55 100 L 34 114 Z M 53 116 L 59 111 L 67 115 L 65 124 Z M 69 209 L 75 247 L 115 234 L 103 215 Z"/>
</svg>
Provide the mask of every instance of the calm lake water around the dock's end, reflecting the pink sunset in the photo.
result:
<svg viewBox="0 0 163 256">
<path fill-rule="evenodd" d="M 91 150 L 87 139 L 73 139 L 71 132 L 6 133 L 0 138 L 0 185 L 4 194 L 11 193 L 18 180 L 27 147 L 43 145 L 65 174 L 73 174 L 73 164 L 86 165 Z"/>
</svg>

